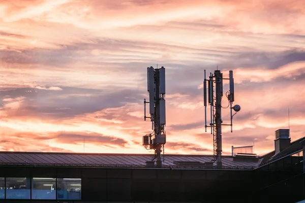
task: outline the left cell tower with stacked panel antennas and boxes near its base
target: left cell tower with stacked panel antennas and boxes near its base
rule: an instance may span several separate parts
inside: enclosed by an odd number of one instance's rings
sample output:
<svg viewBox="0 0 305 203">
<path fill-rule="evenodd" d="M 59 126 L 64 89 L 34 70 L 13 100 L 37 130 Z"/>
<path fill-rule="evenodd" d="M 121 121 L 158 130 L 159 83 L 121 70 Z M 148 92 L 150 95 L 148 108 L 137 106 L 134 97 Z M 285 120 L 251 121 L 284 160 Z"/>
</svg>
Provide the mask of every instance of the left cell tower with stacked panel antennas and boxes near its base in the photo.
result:
<svg viewBox="0 0 305 203">
<path fill-rule="evenodd" d="M 162 165 L 161 152 L 164 153 L 164 144 L 166 143 L 166 133 L 164 126 L 165 116 L 165 68 L 154 69 L 147 67 L 147 91 L 149 92 L 149 101 L 144 98 L 144 120 L 150 118 L 152 133 L 143 136 L 143 146 L 147 150 L 155 150 L 155 156 L 152 161 L 157 159 L 157 166 Z M 146 116 L 146 103 L 149 103 L 150 117 Z"/>
</svg>

